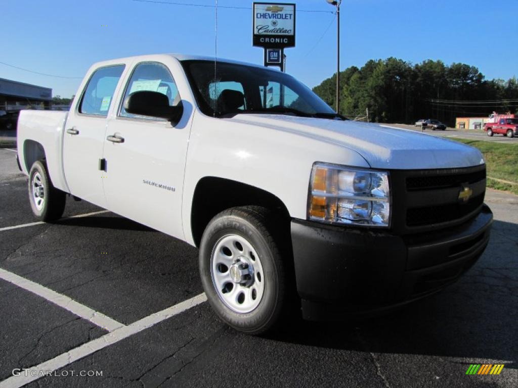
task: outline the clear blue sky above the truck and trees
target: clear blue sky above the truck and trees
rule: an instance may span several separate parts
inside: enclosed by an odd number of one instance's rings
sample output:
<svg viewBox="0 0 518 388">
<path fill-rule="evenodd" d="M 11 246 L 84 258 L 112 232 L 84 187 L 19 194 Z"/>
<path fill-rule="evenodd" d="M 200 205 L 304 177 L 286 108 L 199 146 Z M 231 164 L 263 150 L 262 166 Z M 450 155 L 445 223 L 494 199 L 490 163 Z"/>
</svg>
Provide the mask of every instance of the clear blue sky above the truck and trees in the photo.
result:
<svg viewBox="0 0 518 388">
<path fill-rule="evenodd" d="M 334 7 L 325 0 L 294 3 L 300 10 L 327 11 L 297 12 L 296 47 L 285 51 L 287 72 L 312 87 L 336 71 Z M 218 4 L 251 7 L 252 2 Z M 92 63 L 104 59 L 214 53 L 214 8 L 134 0 L 3 0 L 0 9 L 0 62 L 42 73 L 82 77 Z M 262 49 L 252 47 L 251 12 L 219 8 L 219 56 L 262 63 Z M 507 80 L 518 76 L 516 14 L 516 0 L 343 0 L 340 67 L 359 67 L 368 59 L 390 56 L 412 63 L 441 59 L 477 66 L 487 79 Z M 506 15 L 510 18 L 503 23 Z M 80 83 L 2 64 L 0 78 L 52 87 L 53 95 L 62 97 L 75 94 Z"/>
</svg>

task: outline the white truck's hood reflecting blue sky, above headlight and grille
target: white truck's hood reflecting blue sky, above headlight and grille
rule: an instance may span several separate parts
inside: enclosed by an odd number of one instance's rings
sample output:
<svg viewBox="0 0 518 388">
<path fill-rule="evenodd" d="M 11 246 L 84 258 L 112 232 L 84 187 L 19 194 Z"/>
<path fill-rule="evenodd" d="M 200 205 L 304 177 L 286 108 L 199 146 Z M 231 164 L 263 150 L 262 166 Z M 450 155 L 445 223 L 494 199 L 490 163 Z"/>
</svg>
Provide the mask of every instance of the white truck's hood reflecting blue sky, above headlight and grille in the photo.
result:
<svg viewBox="0 0 518 388">
<path fill-rule="evenodd" d="M 371 168 L 458 168 L 484 162 L 477 148 L 410 129 L 280 114 L 238 114 L 227 120 L 340 145 L 362 155 Z"/>
</svg>

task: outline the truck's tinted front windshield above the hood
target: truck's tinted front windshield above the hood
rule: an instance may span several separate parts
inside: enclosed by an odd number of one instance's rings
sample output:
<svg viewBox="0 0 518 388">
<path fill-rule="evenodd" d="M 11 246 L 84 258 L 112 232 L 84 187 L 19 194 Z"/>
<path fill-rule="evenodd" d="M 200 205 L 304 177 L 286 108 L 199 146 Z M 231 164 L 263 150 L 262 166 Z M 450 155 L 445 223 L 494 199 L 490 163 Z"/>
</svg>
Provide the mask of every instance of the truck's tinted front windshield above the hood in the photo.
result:
<svg viewBox="0 0 518 388">
<path fill-rule="evenodd" d="M 182 61 L 200 110 L 209 116 L 277 113 L 342 118 L 295 78 L 267 68 L 226 62 Z"/>
</svg>

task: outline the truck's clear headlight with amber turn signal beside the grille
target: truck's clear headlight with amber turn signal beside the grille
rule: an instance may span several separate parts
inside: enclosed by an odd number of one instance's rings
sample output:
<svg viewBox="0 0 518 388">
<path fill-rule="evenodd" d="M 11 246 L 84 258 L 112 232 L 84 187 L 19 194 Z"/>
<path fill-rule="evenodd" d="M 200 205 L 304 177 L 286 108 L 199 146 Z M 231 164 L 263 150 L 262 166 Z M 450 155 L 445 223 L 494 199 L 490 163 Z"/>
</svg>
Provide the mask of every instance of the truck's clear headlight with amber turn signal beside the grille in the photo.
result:
<svg viewBox="0 0 518 388">
<path fill-rule="evenodd" d="M 388 172 L 315 163 L 309 190 L 310 220 L 390 226 Z"/>
</svg>

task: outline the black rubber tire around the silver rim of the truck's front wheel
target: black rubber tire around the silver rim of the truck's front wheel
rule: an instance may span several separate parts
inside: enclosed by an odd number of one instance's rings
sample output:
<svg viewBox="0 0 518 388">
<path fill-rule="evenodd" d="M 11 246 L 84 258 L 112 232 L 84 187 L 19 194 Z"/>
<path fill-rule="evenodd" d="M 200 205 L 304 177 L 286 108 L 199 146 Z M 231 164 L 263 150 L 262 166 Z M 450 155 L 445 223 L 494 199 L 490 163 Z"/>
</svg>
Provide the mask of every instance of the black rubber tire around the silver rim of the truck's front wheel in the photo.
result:
<svg viewBox="0 0 518 388">
<path fill-rule="evenodd" d="M 199 249 L 199 271 L 203 288 L 218 317 L 238 331 L 253 335 L 262 334 L 279 321 L 287 291 L 285 265 L 281 257 L 280 244 L 277 243 L 281 236 L 278 234 L 278 228 L 278 219 L 266 208 L 243 206 L 230 208 L 215 216 L 203 233 Z M 247 240 L 256 251 L 264 274 L 262 279 L 257 276 L 255 278 L 255 281 L 264 281 L 264 288 L 260 301 L 252 302 L 258 305 L 249 312 L 238 312 L 229 307 L 223 296 L 220 296 L 221 292 L 216 290 L 212 277 L 212 256 L 217 254 L 214 252 L 215 248 L 225 238 L 236 235 Z M 232 252 L 232 257 L 235 256 Z M 256 268 L 254 271 L 258 272 Z M 231 273 L 231 268 L 228 268 L 228 273 Z M 240 287 L 244 287 L 231 284 L 232 287 L 236 287 L 236 293 L 242 290 Z"/>
</svg>

